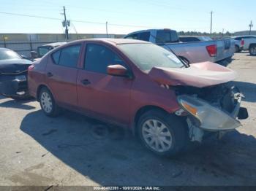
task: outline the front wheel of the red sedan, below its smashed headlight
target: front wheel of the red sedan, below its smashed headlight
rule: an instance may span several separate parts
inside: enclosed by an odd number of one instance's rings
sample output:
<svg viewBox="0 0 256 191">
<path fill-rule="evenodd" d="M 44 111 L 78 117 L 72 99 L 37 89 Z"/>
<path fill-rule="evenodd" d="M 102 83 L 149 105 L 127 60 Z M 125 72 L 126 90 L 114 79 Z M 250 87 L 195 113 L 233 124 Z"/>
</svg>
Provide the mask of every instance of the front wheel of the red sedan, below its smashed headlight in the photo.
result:
<svg viewBox="0 0 256 191">
<path fill-rule="evenodd" d="M 152 126 L 157 127 L 159 131 L 157 132 L 156 129 L 154 131 Z M 179 117 L 160 110 L 151 110 L 142 114 L 137 128 L 140 141 L 157 155 L 174 156 L 184 151 L 189 144 L 187 123 Z M 155 135 L 156 133 L 158 135 Z"/>
</svg>

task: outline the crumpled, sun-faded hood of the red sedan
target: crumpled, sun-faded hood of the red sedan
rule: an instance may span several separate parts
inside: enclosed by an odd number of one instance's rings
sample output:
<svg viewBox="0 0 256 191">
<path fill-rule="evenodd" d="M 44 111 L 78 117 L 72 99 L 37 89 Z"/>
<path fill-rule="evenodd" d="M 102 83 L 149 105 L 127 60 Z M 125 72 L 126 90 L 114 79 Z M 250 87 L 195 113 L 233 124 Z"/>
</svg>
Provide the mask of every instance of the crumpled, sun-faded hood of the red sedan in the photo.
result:
<svg viewBox="0 0 256 191">
<path fill-rule="evenodd" d="M 236 78 L 236 72 L 217 63 L 192 63 L 189 68 L 155 67 L 148 76 L 163 85 L 188 85 L 207 87 L 230 82 Z"/>
</svg>

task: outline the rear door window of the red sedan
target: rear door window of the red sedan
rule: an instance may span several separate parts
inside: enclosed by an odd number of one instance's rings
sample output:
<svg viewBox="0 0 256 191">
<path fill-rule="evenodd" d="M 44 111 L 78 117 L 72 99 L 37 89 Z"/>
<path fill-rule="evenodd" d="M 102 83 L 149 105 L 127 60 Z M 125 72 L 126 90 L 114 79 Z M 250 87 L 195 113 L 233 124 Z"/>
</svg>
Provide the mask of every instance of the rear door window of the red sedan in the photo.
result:
<svg viewBox="0 0 256 191">
<path fill-rule="evenodd" d="M 76 68 L 80 54 L 80 44 L 64 47 L 52 54 L 53 62 L 60 66 Z"/>
</svg>

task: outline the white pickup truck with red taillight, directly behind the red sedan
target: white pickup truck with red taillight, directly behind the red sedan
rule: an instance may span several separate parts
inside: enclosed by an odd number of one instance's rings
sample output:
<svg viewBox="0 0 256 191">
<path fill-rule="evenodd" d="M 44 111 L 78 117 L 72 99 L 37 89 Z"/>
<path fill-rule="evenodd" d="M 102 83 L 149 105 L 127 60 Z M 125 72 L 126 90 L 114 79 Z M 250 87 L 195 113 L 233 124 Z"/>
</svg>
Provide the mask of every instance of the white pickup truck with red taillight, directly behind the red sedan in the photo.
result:
<svg viewBox="0 0 256 191">
<path fill-rule="evenodd" d="M 173 51 L 187 63 L 230 61 L 235 51 L 235 41 L 233 39 L 180 42 L 177 32 L 170 29 L 135 31 L 124 36 L 124 39 L 139 39 L 158 44 L 166 50 Z"/>
</svg>

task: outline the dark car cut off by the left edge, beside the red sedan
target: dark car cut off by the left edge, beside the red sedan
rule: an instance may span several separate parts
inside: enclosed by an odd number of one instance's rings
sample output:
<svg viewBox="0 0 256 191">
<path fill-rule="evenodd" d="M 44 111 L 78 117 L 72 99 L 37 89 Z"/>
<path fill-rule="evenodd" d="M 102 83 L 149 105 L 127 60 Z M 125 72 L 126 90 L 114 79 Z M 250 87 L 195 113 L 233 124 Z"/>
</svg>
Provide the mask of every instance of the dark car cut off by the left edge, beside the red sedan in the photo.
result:
<svg viewBox="0 0 256 191">
<path fill-rule="evenodd" d="M 11 98 L 26 98 L 28 94 L 27 71 L 31 61 L 18 53 L 0 48 L 0 93 Z"/>
</svg>

